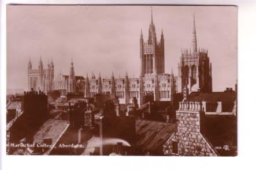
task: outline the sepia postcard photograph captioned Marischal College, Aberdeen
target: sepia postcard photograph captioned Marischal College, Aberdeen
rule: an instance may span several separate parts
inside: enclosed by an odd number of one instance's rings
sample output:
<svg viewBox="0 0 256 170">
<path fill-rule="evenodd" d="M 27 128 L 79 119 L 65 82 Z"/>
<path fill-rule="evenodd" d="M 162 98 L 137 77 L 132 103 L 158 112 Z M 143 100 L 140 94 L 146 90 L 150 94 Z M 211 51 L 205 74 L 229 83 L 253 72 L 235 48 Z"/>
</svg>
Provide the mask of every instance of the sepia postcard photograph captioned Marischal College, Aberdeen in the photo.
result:
<svg viewBox="0 0 256 170">
<path fill-rule="evenodd" d="M 9 4 L 6 74 L 8 155 L 239 154 L 237 6 Z"/>
</svg>

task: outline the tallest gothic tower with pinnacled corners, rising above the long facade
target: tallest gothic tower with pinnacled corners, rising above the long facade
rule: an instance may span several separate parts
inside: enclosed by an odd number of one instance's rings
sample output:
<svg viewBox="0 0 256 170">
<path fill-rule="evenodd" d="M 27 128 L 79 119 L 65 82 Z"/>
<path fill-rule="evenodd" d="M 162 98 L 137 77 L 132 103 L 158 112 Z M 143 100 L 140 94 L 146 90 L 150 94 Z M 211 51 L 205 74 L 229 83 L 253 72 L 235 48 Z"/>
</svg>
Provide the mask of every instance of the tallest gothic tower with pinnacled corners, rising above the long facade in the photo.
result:
<svg viewBox="0 0 256 170">
<path fill-rule="evenodd" d="M 151 21 L 149 25 L 149 38 L 144 42 L 142 31 L 140 32 L 140 74 L 162 74 L 165 72 L 164 55 L 164 33 L 161 33 L 161 39 L 158 42 L 153 22 L 153 13 L 151 9 Z"/>
</svg>

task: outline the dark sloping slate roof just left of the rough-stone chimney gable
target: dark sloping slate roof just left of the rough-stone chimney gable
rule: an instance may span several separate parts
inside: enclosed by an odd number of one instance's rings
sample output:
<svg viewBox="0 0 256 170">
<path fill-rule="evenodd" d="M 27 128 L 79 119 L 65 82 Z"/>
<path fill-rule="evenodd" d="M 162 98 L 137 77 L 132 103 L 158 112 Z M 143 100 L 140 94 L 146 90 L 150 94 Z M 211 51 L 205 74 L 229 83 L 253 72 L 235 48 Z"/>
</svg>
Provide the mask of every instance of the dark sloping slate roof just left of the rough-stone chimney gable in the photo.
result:
<svg viewBox="0 0 256 170">
<path fill-rule="evenodd" d="M 153 153 L 161 153 L 162 146 L 175 131 L 176 124 L 137 119 L 136 147 Z"/>
</svg>

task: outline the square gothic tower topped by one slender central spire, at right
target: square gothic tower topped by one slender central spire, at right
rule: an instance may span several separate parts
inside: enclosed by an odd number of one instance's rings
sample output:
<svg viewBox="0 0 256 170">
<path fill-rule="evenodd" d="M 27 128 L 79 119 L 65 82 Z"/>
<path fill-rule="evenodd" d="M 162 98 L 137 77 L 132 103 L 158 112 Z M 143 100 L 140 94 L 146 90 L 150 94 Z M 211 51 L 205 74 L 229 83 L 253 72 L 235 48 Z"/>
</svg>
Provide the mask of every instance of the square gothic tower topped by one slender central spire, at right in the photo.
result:
<svg viewBox="0 0 256 170">
<path fill-rule="evenodd" d="M 192 51 L 181 51 L 179 67 L 178 92 L 184 89 L 191 92 L 212 92 L 212 67 L 208 51 L 198 48 L 196 40 L 195 16 L 192 27 Z"/>
</svg>

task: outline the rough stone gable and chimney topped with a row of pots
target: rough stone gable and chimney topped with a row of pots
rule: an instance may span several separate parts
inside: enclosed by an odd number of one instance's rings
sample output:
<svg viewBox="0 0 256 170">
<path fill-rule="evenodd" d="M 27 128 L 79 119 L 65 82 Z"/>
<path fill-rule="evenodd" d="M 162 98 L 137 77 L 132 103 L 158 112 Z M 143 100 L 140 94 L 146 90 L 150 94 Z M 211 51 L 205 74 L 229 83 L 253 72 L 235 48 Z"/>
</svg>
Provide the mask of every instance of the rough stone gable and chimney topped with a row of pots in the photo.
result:
<svg viewBox="0 0 256 170">
<path fill-rule="evenodd" d="M 176 111 L 177 131 L 165 143 L 165 155 L 217 156 L 212 145 L 201 134 L 203 115 L 201 103 L 180 102 Z"/>
</svg>

